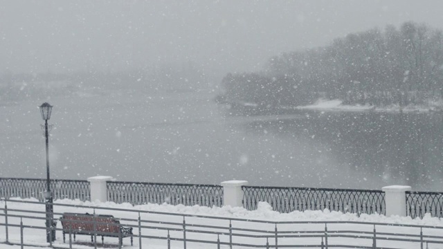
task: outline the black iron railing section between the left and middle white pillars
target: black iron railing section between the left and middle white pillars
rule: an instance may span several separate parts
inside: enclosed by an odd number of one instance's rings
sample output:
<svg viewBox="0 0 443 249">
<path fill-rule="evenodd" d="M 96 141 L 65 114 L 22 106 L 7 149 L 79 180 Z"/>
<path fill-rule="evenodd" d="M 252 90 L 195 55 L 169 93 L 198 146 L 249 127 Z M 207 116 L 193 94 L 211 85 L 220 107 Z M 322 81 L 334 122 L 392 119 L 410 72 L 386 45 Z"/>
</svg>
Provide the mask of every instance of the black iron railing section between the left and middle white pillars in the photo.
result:
<svg viewBox="0 0 443 249">
<path fill-rule="evenodd" d="M 223 205 L 223 187 L 220 185 L 107 182 L 108 201 L 115 203 L 168 203 L 171 205 Z"/>
</svg>

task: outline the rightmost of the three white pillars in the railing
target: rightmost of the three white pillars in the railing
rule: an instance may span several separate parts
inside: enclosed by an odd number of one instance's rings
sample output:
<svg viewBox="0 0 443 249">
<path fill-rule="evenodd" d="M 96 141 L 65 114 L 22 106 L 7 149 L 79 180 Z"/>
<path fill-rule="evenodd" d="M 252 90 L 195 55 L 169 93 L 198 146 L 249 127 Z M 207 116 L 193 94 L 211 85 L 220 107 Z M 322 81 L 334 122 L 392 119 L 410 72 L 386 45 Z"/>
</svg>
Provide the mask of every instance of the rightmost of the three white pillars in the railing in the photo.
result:
<svg viewBox="0 0 443 249">
<path fill-rule="evenodd" d="M 382 187 L 385 192 L 386 216 L 399 215 L 406 216 L 406 191 L 410 191 L 410 186 L 391 185 Z"/>
</svg>

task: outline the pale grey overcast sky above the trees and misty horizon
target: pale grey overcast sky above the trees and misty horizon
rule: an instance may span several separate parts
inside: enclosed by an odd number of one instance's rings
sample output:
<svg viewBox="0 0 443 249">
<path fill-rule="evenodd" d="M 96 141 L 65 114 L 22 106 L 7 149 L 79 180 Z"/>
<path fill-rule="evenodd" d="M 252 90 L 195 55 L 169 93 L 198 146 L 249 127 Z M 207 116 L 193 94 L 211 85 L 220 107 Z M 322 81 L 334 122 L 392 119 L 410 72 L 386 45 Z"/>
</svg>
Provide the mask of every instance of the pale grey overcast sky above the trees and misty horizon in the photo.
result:
<svg viewBox="0 0 443 249">
<path fill-rule="evenodd" d="M 194 62 L 223 75 L 404 21 L 443 29 L 442 0 L 0 0 L 0 73 Z"/>
</svg>

